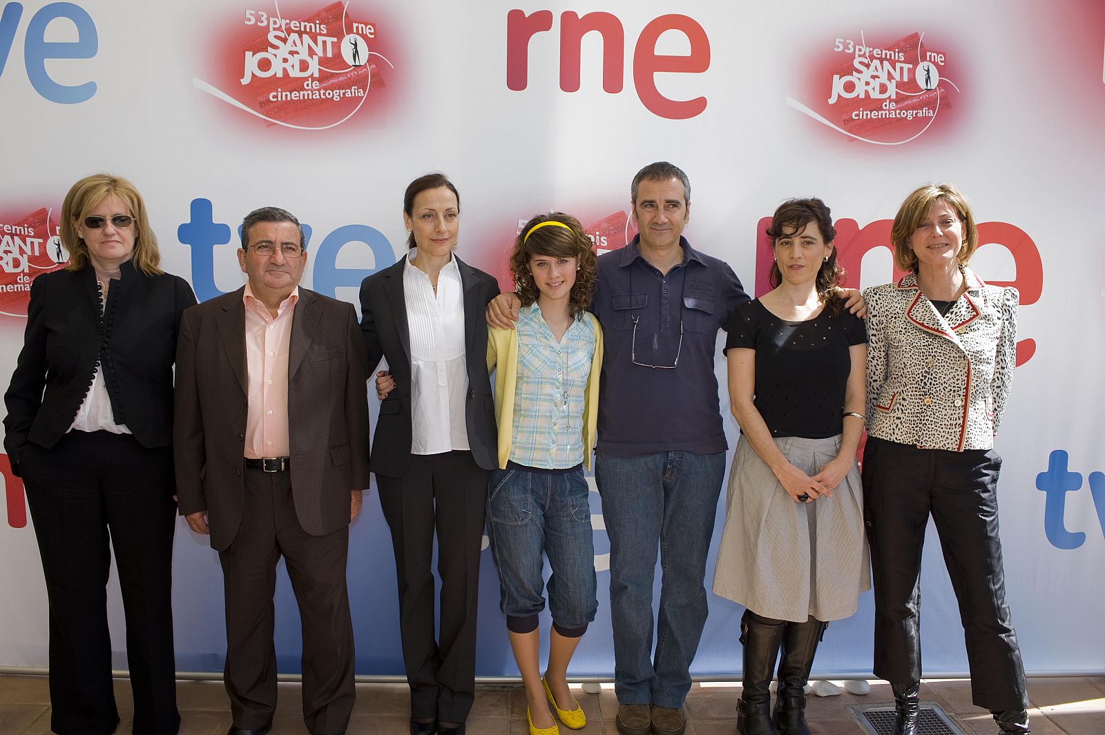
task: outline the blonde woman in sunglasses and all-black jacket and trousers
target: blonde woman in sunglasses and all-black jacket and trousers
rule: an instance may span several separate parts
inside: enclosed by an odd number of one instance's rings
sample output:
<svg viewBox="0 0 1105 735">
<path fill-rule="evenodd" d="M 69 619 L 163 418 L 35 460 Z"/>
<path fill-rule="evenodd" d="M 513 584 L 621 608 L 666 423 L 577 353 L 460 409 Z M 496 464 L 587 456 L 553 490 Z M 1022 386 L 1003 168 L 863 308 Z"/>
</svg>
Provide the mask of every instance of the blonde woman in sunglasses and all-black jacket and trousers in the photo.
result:
<svg viewBox="0 0 1105 735">
<path fill-rule="evenodd" d="M 4 449 L 27 488 L 50 598 L 55 733 L 112 733 L 106 585 L 118 565 L 134 732 L 176 733 L 172 362 L 188 284 L 134 184 L 96 174 L 65 196 L 70 264 L 34 279 L 4 394 Z"/>
</svg>

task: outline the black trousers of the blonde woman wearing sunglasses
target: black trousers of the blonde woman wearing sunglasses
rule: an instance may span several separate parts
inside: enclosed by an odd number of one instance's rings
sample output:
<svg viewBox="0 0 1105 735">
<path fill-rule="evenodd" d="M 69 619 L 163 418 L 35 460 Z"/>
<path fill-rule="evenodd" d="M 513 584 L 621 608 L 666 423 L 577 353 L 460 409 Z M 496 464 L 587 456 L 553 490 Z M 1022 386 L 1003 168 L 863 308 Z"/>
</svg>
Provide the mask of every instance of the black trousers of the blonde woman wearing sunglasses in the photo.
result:
<svg viewBox="0 0 1105 735">
<path fill-rule="evenodd" d="M 50 598 L 50 703 L 55 733 L 112 733 L 107 627 L 110 551 L 127 624 L 134 732 L 179 729 L 172 653 L 172 449 L 130 435 L 71 432 L 20 461 Z"/>
</svg>

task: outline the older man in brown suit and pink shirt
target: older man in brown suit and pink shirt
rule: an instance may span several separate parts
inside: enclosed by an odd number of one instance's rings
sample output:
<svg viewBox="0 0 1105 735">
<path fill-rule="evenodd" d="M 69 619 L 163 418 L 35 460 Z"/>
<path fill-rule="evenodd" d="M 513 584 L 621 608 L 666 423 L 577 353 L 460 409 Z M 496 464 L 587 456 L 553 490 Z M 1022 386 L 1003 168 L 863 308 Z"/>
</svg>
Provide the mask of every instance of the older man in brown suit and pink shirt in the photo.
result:
<svg viewBox="0 0 1105 735">
<path fill-rule="evenodd" d="M 351 306 L 299 288 L 304 244 L 291 213 L 251 212 L 238 252 L 249 283 L 180 324 L 177 490 L 222 563 L 228 735 L 272 726 L 281 555 L 303 620 L 304 722 L 341 733 L 355 696 L 346 554 L 369 481 L 365 347 Z"/>
</svg>

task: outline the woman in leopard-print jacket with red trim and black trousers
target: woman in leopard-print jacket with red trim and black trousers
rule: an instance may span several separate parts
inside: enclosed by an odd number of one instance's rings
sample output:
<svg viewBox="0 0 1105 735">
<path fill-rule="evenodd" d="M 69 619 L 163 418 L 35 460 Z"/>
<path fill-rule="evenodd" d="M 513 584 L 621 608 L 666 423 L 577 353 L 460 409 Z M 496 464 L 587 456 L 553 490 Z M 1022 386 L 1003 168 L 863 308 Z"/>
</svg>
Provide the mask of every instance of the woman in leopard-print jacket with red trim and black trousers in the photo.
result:
<svg viewBox="0 0 1105 735">
<path fill-rule="evenodd" d="M 1001 733 L 1029 732 L 1024 668 L 1006 605 L 993 438 L 1017 362 L 1015 288 L 967 262 L 978 231 L 953 184 L 903 202 L 891 231 L 908 271 L 869 288 L 864 519 L 875 586 L 876 677 L 897 704 L 896 735 L 916 735 L 920 555 L 932 514 L 967 639 L 972 701 Z"/>
</svg>

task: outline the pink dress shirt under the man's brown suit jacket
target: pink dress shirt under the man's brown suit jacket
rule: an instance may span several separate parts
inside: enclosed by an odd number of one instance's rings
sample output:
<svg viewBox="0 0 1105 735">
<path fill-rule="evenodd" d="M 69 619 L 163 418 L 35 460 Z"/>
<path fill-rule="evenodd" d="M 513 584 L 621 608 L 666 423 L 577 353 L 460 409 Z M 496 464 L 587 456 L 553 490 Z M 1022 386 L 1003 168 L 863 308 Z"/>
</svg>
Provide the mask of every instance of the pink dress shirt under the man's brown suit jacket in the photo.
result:
<svg viewBox="0 0 1105 735">
<path fill-rule="evenodd" d="M 276 317 L 253 296 L 245 284 L 245 372 L 249 408 L 245 411 L 246 459 L 287 457 L 287 355 L 292 343 L 292 315 L 299 287 L 276 309 Z"/>
</svg>

